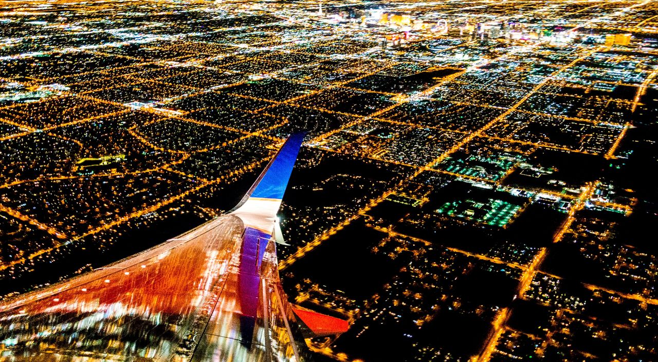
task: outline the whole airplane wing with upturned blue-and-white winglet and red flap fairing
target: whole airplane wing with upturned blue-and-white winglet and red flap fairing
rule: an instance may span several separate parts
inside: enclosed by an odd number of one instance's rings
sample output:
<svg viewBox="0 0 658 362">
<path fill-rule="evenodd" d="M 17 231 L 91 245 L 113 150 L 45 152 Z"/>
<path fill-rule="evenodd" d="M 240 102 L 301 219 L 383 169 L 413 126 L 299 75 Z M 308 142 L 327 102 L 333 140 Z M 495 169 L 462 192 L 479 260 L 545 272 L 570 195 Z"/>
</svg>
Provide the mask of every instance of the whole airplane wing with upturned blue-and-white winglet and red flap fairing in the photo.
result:
<svg viewBox="0 0 658 362">
<path fill-rule="evenodd" d="M 292 134 L 228 213 L 141 253 L 0 302 L 0 362 L 309 361 L 347 321 L 288 302 L 276 213 Z"/>
</svg>

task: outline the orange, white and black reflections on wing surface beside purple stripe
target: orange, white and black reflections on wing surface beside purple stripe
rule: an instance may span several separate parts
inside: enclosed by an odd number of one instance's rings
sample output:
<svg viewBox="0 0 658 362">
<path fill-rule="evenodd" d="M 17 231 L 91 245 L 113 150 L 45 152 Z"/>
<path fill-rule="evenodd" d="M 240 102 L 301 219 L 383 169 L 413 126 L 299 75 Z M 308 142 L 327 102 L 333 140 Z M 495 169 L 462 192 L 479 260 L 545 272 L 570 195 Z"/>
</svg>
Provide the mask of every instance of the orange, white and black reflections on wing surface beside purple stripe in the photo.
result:
<svg viewBox="0 0 658 362">
<path fill-rule="evenodd" d="M 273 242 L 253 338 L 241 331 L 244 226 L 211 220 L 143 253 L 0 305 L 0 361 L 299 361 Z M 300 344 L 303 346 L 303 343 Z"/>
</svg>

